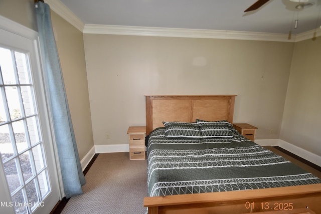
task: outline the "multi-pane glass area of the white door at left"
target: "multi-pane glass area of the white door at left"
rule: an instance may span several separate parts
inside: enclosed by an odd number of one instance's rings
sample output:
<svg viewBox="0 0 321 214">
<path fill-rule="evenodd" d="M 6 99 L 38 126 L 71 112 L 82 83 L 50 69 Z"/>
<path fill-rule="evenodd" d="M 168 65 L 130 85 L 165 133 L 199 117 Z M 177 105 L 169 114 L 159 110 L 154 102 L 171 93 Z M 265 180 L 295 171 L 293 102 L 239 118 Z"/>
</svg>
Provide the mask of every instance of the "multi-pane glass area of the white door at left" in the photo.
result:
<svg viewBox="0 0 321 214">
<path fill-rule="evenodd" d="M 50 186 L 28 54 L 0 48 L 0 73 L 2 162 L 16 212 L 31 213 Z"/>
</svg>

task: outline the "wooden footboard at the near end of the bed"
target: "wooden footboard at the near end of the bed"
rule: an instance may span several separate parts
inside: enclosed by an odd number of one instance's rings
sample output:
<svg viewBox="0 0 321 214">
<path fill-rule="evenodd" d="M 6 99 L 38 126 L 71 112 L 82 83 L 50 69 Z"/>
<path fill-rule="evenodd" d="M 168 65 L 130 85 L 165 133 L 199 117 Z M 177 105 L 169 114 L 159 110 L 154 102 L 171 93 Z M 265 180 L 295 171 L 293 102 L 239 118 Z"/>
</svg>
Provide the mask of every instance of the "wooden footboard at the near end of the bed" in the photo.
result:
<svg viewBox="0 0 321 214">
<path fill-rule="evenodd" d="M 145 197 L 149 214 L 321 213 L 321 184 Z M 308 212 L 308 211 L 311 212 Z M 303 213 L 303 212 L 301 212 Z"/>
</svg>

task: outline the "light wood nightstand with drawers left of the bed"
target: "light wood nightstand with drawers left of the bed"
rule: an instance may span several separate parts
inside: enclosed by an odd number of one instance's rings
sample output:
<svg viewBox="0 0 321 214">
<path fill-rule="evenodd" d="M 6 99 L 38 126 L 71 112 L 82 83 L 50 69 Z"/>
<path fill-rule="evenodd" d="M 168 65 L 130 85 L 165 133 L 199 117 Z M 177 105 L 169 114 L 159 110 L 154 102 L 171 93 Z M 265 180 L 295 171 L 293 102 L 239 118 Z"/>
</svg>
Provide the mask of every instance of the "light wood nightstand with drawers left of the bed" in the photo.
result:
<svg viewBox="0 0 321 214">
<path fill-rule="evenodd" d="M 129 126 L 129 160 L 145 160 L 146 126 Z"/>
</svg>

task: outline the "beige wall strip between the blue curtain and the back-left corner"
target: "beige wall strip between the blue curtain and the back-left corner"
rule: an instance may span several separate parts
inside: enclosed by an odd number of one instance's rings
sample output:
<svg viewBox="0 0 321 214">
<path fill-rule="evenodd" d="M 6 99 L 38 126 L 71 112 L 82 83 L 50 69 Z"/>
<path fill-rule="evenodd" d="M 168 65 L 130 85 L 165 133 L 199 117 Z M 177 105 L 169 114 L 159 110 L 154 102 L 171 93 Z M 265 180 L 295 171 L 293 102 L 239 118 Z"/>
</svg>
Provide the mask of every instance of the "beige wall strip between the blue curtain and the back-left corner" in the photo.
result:
<svg viewBox="0 0 321 214">
<path fill-rule="evenodd" d="M 79 157 L 82 159 L 94 146 L 83 33 L 53 11 L 51 19 Z"/>
</svg>

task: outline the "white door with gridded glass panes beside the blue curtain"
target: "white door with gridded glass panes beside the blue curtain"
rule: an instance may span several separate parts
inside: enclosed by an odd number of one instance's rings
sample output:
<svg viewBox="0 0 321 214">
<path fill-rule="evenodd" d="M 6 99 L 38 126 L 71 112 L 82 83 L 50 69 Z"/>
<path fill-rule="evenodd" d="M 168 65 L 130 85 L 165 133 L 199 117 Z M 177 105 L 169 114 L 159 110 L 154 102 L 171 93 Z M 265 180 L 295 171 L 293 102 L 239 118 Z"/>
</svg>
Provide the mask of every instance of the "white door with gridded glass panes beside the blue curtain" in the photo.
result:
<svg viewBox="0 0 321 214">
<path fill-rule="evenodd" d="M 0 35 L 0 212 L 49 213 L 60 199 L 58 170 L 35 42 Z"/>
</svg>

